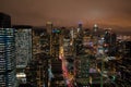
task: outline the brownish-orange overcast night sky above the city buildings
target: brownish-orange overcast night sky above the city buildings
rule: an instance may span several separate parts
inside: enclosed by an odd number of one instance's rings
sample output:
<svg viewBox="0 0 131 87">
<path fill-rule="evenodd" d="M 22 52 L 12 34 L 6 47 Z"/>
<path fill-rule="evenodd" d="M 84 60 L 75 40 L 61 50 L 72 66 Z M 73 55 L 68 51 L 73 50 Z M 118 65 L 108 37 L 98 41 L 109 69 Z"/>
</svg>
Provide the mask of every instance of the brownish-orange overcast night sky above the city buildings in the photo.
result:
<svg viewBox="0 0 131 87">
<path fill-rule="evenodd" d="M 0 0 L 0 12 L 10 14 L 12 24 L 85 27 L 98 24 L 131 33 L 131 0 Z"/>
</svg>

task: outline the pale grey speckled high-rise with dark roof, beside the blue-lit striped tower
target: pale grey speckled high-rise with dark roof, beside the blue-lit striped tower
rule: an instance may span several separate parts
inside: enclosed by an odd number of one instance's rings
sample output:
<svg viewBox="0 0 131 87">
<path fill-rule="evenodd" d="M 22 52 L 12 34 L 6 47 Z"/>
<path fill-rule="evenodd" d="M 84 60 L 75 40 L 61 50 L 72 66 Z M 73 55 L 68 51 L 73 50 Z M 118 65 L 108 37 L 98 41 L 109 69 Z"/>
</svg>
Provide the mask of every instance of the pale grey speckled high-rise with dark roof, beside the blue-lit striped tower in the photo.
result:
<svg viewBox="0 0 131 87">
<path fill-rule="evenodd" d="M 16 67 L 24 69 L 32 60 L 32 26 L 15 25 Z"/>
</svg>

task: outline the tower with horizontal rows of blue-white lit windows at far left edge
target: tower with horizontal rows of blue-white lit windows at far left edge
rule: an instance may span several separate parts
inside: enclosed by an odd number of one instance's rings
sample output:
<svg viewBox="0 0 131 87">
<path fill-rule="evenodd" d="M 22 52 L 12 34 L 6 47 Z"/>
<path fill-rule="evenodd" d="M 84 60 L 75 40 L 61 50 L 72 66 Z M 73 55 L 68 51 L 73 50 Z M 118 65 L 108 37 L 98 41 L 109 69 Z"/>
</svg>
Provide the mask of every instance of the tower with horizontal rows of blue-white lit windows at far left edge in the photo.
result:
<svg viewBox="0 0 131 87">
<path fill-rule="evenodd" d="M 13 28 L 0 28 L 0 87 L 15 87 L 15 42 Z"/>
</svg>

